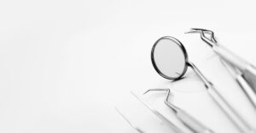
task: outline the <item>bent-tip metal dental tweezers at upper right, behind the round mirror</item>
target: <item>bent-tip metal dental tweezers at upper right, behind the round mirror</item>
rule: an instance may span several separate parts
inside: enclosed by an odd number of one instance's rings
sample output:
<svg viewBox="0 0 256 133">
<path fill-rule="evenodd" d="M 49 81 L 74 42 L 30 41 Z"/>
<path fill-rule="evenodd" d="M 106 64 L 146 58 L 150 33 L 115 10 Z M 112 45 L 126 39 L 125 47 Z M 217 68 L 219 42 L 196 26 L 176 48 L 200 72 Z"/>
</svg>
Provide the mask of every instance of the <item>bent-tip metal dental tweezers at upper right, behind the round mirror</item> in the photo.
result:
<svg viewBox="0 0 256 133">
<path fill-rule="evenodd" d="M 213 51 L 218 54 L 226 69 L 236 79 L 241 89 L 247 95 L 247 98 L 256 108 L 256 69 L 252 64 L 247 63 L 244 59 L 238 57 L 235 53 L 231 53 L 225 47 L 218 45 L 212 30 L 192 28 L 186 33 L 200 33 L 201 39 L 212 47 Z M 211 37 L 205 36 L 209 34 Z"/>
</svg>

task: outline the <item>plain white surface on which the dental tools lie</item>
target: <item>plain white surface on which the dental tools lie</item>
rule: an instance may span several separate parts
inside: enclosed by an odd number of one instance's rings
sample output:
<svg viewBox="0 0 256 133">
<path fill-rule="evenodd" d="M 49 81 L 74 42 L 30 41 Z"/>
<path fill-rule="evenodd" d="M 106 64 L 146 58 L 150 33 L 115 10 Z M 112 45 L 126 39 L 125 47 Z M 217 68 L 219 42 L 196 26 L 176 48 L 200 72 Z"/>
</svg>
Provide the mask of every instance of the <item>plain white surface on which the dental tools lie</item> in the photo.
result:
<svg viewBox="0 0 256 133">
<path fill-rule="evenodd" d="M 255 111 L 211 49 L 190 27 L 256 64 L 255 1 L 1 1 L 0 132 L 132 132 L 114 106 L 131 90 L 175 87 L 177 105 L 219 132 L 235 128 L 191 72 L 172 84 L 157 75 L 150 50 L 179 39 L 201 71 L 242 116 Z M 213 70 L 212 70 L 213 69 Z"/>
</svg>

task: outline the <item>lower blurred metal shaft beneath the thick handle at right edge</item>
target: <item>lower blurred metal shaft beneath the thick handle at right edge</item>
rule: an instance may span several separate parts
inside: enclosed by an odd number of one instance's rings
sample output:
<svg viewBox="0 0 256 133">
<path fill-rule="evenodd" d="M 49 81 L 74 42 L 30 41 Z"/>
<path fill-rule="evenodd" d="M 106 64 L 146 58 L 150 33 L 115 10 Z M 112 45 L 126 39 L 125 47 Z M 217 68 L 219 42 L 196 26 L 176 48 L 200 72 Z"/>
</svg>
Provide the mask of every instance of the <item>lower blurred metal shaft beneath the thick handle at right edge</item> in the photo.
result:
<svg viewBox="0 0 256 133">
<path fill-rule="evenodd" d="M 251 86 L 248 85 L 247 81 L 241 75 L 241 71 L 239 69 L 233 68 L 230 64 L 224 62 L 224 60 L 220 59 L 224 67 L 228 69 L 230 74 L 235 78 L 237 84 L 241 86 L 242 91 L 247 95 L 248 100 L 252 103 L 253 108 L 256 108 L 256 94 L 254 93 Z"/>
</svg>

